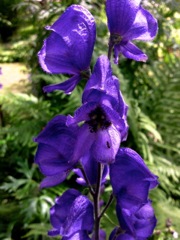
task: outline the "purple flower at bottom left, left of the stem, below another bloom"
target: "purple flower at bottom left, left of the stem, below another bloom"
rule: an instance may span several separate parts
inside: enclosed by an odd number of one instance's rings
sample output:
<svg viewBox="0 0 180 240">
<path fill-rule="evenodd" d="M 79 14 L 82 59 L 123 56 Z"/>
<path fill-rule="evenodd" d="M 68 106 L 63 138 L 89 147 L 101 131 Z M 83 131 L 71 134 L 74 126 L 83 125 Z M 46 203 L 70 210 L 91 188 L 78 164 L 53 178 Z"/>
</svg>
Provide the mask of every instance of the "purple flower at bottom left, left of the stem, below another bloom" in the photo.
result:
<svg viewBox="0 0 180 240">
<path fill-rule="evenodd" d="M 53 229 L 49 236 L 63 236 L 62 240 L 90 240 L 93 230 L 93 205 L 90 200 L 75 189 L 69 189 L 56 199 L 50 209 Z"/>
</svg>

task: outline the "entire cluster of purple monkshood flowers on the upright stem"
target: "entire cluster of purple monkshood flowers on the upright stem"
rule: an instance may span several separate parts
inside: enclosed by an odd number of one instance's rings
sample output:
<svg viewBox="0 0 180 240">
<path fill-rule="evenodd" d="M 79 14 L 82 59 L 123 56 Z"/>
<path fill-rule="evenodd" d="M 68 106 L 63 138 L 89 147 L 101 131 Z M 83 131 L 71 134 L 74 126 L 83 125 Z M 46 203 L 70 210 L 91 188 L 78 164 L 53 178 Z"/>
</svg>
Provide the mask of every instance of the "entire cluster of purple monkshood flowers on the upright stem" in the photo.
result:
<svg viewBox="0 0 180 240">
<path fill-rule="evenodd" d="M 148 193 L 157 186 L 157 176 L 138 153 L 120 147 L 128 134 L 128 106 L 119 80 L 112 73 L 110 58 L 113 51 L 115 63 L 120 53 L 146 61 L 147 56 L 131 40 L 152 40 L 157 22 L 139 0 L 107 0 L 106 13 L 110 31 L 108 57 L 101 55 L 97 59 L 92 74 L 96 25 L 91 13 L 80 5 L 71 5 L 47 27 L 51 34 L 38 53 L 46 72 L 71 75 L 63 83 L 44 87 L 45 92 L 62 90 L 70 94 L 88 75 L 82 105 L 74 116 L 54 117 L 35 138 L 35 162 L 45 176 L 41 187 L 60 184 L 74 171 L 77 182 L 89 187 L 93 199 L 75 189 L 56 199 L 50 210 L 53 229 L 48 234 L 61 235 L 63 240 L 105 240 L 100 220 L 114 198 L 119 226 L 112 229 L 109 240 L 145 240 L 156 225 Z M 101 210 L 100 194 L 108 176 L 113 192 Z"/>
</svg>

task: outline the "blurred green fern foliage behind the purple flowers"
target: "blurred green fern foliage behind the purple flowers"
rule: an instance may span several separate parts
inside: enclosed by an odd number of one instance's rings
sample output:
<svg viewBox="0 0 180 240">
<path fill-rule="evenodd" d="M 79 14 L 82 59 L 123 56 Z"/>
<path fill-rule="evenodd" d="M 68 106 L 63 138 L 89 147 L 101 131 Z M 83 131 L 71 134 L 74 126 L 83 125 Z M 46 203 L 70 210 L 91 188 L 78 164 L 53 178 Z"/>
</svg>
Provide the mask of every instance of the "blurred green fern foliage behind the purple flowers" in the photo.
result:
<svg viewBox="0 0 180 240">
<path fill-rule="evenodd" d="M 97 42 L 92 66 L 107 54 L 108 30 L 104 0 L 1 0 L 0 63 L 22 62 L 29 83 L 23 94 L 0 94 L 0 239 L 46 240 L 49 208 L 55 196 L 76 187 L 75 176 L 61 186 L 39 190 L 42 175 L 33 164 L 35 137 L 57 114 L 73 114 L 80 106 L 81 84 L 70 96 L 44 94 L 42 86 L 66 76 L 45 74 L 37 52 L 48 36 L 44 29 L 71 4 L 82 4 L 95 16 Z M 180 2 L 142 1 L 159 22 L 152 43 L 138 43 L 149 56 L 147 63 L 120 58 L 113 66 L 129 105 L 130 132 L 124 146 L 136 150 L 159 176 L 151 193 L 158 218 L 152 239 L 171 240 L 180 235 Z M 2 69 L 3 70 L 3 69 Z M 106 200 L 108 188 L 104 193 Z M 116 222 L 112 204 L 102 221 L 109 233 Z M 179 237 L 180 239 L 180 237 Z"/>
</svg>

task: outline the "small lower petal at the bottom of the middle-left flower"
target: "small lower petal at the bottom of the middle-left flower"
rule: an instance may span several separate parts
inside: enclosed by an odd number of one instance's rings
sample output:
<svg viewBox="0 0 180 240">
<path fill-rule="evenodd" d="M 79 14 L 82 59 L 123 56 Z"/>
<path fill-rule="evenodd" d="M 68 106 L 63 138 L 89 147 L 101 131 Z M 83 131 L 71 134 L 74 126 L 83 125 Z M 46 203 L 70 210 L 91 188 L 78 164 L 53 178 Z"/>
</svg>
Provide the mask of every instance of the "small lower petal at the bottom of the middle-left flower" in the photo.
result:
<svg viewBox="0 0 180 240">
<path fill-rule="evenodd" d="M 40 184 L 40 188 L 48 188 L 48 187 L 56 186 L 62 183 L 66 179 L 66 177 L 67 177 L 66 172 L 61 172 L 56 175 L 47 176 L 42 180 Z"/>
</svg>

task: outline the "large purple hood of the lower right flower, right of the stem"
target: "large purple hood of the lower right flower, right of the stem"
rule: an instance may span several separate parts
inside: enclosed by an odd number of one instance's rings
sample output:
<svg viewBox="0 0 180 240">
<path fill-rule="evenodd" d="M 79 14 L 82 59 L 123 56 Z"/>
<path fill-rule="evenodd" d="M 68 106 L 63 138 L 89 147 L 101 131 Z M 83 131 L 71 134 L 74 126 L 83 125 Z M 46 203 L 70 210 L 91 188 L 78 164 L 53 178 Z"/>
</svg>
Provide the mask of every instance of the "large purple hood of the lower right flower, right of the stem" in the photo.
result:
<svg viewBox="0 0 180 240">
<path fill-rule="evenodd" d="M 115 163 L 110 165 L 110 179 L 118 201 L 124 204 L 125 208 L 128 204 L 128 208 L 132 209 L 146 202 L 149 189 L 158 184 L 157 176 L 152 174 L 143 159 L 129 148 L 119 149 Z"/>
</svg>

